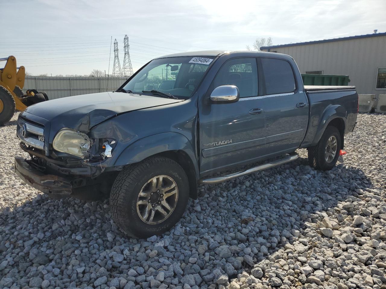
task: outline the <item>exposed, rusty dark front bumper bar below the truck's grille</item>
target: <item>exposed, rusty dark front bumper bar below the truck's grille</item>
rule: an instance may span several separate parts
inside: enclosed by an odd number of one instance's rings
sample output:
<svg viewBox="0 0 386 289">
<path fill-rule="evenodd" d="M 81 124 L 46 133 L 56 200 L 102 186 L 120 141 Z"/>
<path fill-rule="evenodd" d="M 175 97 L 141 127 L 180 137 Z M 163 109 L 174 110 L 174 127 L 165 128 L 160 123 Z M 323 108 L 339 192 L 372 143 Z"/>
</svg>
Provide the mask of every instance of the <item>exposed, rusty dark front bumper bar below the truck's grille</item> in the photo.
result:
<svg viewBox="0 0 386 289">
<path fill-rule="evenodd" d="M 74 179 L 63 176 L 46 175 L 29 164 L 25 158 L 15 158 L 15 172 L 25 183 L 49 195 L 70 197 L 74 192 Z M 79 180 L 78 180 L 79 182 Z"/>
</svg>

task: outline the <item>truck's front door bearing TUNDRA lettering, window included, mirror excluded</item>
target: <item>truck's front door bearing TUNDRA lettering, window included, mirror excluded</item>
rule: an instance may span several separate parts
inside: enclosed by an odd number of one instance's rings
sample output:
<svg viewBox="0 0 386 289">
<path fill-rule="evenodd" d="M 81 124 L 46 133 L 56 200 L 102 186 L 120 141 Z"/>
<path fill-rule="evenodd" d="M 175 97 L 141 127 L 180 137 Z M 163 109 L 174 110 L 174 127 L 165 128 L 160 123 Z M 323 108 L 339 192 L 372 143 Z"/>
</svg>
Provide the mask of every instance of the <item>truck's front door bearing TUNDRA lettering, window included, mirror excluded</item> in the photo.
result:
<svg viewBox="0 0 386 289">
<path fill-rule="evenodd" d="M 239 88 L 239 101 L 210 102 L 210 92 L 226 84 Z M 257 90 L 256 58 L 230 59 L 220 68 L 199 107 L 201 174 L 241 165 L 261 155 L 265 121 L 259 112 L 262 97 Z"/>
</svg>

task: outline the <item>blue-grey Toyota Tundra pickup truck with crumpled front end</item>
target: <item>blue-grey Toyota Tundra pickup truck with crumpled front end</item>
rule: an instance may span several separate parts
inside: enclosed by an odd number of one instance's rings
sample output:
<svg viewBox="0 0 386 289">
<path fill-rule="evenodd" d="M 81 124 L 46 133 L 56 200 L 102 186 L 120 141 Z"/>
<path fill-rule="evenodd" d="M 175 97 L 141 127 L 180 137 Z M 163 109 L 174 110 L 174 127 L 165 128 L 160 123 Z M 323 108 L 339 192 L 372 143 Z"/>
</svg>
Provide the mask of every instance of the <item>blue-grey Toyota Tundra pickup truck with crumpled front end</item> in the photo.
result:
<svg viewBox="0 0 386 289">
<path fill-rule="evenodd" d="M 198 183 L 288 163 L 299 148 L 307 148 L 314 168 L 332 169 L 357 113 L 356 87 L 304 87 L 288 55 L 167 55 L 115 92 L 54 99 L 20 113 L 17 136 L 30 158 L 15 158 L 15 171 L 53 197 L 108 192 L 117 226 L 149 237 L 178 222 Z"/>
</svg>

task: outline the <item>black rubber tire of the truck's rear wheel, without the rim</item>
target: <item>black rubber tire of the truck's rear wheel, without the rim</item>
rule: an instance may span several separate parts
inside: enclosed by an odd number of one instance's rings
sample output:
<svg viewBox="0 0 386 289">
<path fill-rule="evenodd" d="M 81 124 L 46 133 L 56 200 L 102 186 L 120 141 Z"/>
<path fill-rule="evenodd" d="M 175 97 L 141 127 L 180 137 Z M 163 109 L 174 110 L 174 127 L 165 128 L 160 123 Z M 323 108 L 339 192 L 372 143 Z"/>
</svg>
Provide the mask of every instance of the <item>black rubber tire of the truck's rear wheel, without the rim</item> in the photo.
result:
<svg viewBox="0 0 386 289">
<path fill-rule="evenodd" d="M 327 142 L 330 138 L 335 137 L 336 139 L 336 152 L 334 157 L 331 157 L 330 161 L 326 160 L 326 147 Z M 337 129 L 335 126 L 327 126 L 326 130 L 324 131 L 322 138 L 320 138 L 318 144 L 316 146 L 312 146 L 308 148 L 308 163 L 310 166 L 313 166 L 317 170 L 323 170 L 323 171 L 329 171 L 332 168 L 334 168 L 335 164 L 338 161 L 339 158 L 339 151 L 342 144 L 342 139 L 340 137 L 339 129 Z"/>
</svg>

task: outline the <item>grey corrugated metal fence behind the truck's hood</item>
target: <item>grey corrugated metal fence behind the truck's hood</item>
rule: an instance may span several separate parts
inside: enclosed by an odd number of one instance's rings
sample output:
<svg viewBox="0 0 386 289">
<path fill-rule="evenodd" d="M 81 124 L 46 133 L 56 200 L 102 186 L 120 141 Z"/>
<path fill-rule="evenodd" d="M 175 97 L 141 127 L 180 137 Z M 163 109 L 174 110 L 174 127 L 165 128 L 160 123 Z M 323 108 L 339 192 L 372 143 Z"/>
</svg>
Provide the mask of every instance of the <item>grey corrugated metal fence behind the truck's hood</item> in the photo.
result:
<svg viewBox="0 0 386 289">
<path fill-rule="evenodd" d="M 126 81 L 125 77 L 49 77 L 27 76 L 23 90 L 36 89 L 45 91 L 49 99 L 88 94 L 103 91 L 115 91 Z"/>
</svg>

